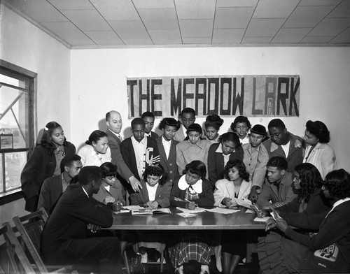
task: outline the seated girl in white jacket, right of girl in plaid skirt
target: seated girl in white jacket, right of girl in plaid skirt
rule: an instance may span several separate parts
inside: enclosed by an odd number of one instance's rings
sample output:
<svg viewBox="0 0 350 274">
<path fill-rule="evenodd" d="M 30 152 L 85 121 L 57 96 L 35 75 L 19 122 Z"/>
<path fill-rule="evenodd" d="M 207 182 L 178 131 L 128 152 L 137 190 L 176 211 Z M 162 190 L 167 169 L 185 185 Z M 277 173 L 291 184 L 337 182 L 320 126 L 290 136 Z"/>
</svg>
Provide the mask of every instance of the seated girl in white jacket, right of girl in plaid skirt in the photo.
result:
<svg viewBox="0 0 350 274">
<path fill-rule="evenodd" d="M 224 179 L 218 180 L 215 184 L 214 206 L 226 207 L 237 206 L 238 199 L 247 199 L 251 192 L 251 182 L 249 182 L 249 173 L 242 161 L 228 161 L 225 166 Z M 222 234 L 222 247 L 216 249 L 216 258 L 223 256 L 223 273 L 234 273 L 239 261 L 246 254 L 246 233 L 237 231 L 225 231 Z M 218 265 L 218 264 L 217 264 Z"/>
</svg>

